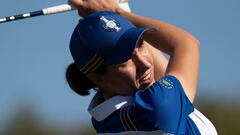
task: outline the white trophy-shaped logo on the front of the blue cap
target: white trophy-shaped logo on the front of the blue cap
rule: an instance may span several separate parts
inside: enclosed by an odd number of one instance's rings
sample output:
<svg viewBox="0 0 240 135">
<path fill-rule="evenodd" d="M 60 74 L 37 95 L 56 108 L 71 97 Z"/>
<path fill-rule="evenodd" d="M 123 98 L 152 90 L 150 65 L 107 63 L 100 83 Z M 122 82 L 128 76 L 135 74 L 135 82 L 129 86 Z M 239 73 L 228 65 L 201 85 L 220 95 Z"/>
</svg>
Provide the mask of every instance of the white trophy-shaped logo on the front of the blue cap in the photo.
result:
<svg viewBox="0 0 240 135">
<path fill-rule="evenodd" d="M 101 16 L 100 20 L 103 22 L 103 28 L 107 31 L 119 32 L 122 29 L 120 24 L 110 17 Z"/>
</svg>

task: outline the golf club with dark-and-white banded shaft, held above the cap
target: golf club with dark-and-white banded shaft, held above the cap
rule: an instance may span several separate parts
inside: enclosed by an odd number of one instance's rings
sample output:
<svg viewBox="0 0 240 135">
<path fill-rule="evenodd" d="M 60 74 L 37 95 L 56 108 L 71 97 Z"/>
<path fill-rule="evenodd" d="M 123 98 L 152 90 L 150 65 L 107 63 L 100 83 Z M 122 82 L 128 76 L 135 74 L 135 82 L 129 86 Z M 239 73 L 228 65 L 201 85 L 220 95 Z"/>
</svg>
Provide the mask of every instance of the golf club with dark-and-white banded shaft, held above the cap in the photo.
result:
<svg viewBox="0 0 240 135">
<path fill-rule="evenodd" d="M 119 6 L 121 8 L 130 12 L 128 0 L 118 0 L 118 2 L 119 2 Z M 20 19 L 25 19 L 25 18 L 31 18 L 31 17 L 35 17 L 35 16 L 57 14 L 57 13 L 61 13 L 61 12 L 71 11 L 71 10 L 75 10 L 75 8 L 69 4 L 62 4 L 62 5 L 58 5 L 58 6 L 44 8 L 44 9 L 38 10 L 38 11 L 25 13 L 25 14 L 19 14 L 19 15 L 9 16 L 9 17 L 5 17 L 5 18 L 0 18 L 0 23 L 20 20 Z"/>
</svg>

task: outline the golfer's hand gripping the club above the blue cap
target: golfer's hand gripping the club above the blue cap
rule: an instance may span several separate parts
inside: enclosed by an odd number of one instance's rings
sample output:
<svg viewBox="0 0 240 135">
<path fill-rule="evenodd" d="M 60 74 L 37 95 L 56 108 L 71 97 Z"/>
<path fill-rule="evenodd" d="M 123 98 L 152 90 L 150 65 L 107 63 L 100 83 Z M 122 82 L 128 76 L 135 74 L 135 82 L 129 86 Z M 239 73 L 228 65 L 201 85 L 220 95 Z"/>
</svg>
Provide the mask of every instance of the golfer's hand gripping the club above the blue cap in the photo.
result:
<svg viewBox="0 0 240 135">
<path fill-rule="evenodd" d="M 68 0 L 70 5 L 78 9 L 78 14 L 85 17 L 98 11 L 116 12 L 119 8 L 118 0 Z"/>
</svg>

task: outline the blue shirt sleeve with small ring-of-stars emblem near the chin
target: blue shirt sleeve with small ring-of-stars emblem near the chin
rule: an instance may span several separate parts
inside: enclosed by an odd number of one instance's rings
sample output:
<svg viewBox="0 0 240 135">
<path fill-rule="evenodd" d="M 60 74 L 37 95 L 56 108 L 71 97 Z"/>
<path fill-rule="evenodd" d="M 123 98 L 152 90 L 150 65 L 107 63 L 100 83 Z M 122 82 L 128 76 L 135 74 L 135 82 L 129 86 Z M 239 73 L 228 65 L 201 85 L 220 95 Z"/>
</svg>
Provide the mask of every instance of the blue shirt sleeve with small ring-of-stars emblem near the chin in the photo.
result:
<svg viewBox="0 0 240 135">
<path fill-rule="evenodd" d="M 186 130 L 186 117 L 194 111 L 179 80 L 165 76 L 146 90 L 134 95 L 129 115 L 140 130 L 163 130 L 182 134 Z"/>
</svg>

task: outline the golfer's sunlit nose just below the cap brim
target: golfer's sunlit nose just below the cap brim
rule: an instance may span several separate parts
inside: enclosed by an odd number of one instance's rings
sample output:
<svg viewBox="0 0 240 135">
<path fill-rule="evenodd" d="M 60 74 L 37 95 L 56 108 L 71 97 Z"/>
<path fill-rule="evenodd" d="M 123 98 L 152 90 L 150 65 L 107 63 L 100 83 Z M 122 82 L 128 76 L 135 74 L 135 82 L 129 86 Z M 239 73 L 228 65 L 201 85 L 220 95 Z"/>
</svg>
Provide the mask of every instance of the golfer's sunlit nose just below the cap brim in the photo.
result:
<svg viewBox="0 0 240 135">
<path fill-rule="evenodd" d="M 141 54 L 138 48 L 135 48 L 134 50 L 133 61 L 136 65 L 136 68 L 140 72 L 145 72 L 147 69 L 151 67 L 151 63 L 148 59 L 148 55 Z"/>
</svg>

